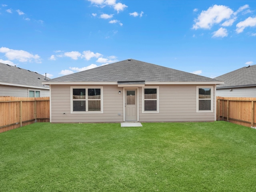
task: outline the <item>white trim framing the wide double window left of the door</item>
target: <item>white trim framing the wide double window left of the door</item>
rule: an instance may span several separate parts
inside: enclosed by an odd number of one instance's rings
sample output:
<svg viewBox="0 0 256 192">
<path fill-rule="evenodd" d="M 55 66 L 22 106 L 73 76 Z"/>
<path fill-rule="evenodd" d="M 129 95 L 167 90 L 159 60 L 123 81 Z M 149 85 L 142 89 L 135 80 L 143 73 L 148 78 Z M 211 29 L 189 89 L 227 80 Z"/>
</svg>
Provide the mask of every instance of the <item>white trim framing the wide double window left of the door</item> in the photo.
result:
<svg viewBox="0 0 256 192">
<path fill-rule="evenodd" d="M 100 111 L 73 111 L 73 89 L 86 90 L 86 108 L 88 108 L 88 89 L 100 89 Z M 70 113 L 71 114 L 96 114 L 103 113 L 103 86 L 70 86 Z"/>
</svg>

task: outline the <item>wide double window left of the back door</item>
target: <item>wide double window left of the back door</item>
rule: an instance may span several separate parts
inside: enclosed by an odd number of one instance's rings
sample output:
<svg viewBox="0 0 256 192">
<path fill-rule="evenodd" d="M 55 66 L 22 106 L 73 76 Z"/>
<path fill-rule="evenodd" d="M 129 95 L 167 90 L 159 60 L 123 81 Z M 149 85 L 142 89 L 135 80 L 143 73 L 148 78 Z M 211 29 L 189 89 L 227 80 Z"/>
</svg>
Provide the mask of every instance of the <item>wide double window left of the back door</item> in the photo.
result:
<svg viewBox="0 0 256 192">
<path fill-rule="evenodd" d="M 71 87 L 71 113 L 102 111 L 102 87 Z"/>
</svg>

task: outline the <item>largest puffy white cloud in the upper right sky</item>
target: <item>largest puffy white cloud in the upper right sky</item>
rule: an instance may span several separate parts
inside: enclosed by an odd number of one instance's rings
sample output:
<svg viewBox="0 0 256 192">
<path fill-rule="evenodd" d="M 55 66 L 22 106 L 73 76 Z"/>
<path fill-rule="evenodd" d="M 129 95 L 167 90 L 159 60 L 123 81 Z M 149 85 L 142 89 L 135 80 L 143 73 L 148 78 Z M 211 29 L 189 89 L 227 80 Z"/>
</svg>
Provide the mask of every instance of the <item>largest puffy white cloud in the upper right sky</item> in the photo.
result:
<svg viewBox="0 0 256 192">
<path fill-rule="evenodd" d="M 204 28 L 210 29 L 214 24 L 218 24 L 225 19 L 229 19 L 233 10 L 223 5 L 214 5 L 201 14 L 194 20 L 193 29 Z"/>
</svg>

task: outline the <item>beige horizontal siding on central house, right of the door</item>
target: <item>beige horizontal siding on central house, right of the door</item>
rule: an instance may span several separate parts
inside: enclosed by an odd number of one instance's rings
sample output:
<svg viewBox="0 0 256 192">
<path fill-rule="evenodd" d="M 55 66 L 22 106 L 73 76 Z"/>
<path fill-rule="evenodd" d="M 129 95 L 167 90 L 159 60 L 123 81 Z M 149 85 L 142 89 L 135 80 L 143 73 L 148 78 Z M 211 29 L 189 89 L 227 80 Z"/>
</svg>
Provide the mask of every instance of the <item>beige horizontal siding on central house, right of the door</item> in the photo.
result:
<svg viewBox="0 0 256 192">
<path fill-rule="evenodd" d="M 213 88 L 214 90 L 215 88 Z M 141 88 L 139 94 L 139 98 L 142 98 Z M 213 100 L 213 112 L 196 112 L 196 85 L 159 85 L 159 113 L 142 113 L 141 99 L 139 103 L 140 122 L 215 120 L 215 97 Z"/>
</svg>

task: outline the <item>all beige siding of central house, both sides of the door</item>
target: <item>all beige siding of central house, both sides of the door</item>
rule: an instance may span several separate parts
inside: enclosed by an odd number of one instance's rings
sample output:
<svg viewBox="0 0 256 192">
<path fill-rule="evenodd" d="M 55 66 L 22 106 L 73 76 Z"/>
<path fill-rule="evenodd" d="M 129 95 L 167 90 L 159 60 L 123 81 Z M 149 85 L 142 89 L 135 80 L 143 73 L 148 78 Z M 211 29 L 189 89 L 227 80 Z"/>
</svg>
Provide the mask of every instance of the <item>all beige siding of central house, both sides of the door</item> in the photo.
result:
<svg viewBox="0 0 256 192">
<path fill-rule="evenodd" d="M 142 88 L 140 87 L 138 89 L 140 122 L 185 122 L 215 120 L 215 100 L 213 100 L 213 112 L 196 112 L 196 85 L 158 86 L 159 113 L 142 113 Z M 213 91 L 214 90 L 215 87 L 213 88 Z M 121 91 L 121 94 L 118 94 L 119 91 Z M 123 88 L 118 87 L 117 85 L 103 86 L 102 114 L 71 114 L 70 85 L 51 85 L 51 94 L 51 114 L 52 122 L 54 123 L 123 122 L 124 120 Z M 213 99 L 215 99 L 215 96 Z M 118 116 L 118 114 L 120 114 L 120 116 Z"/>
</svg>

